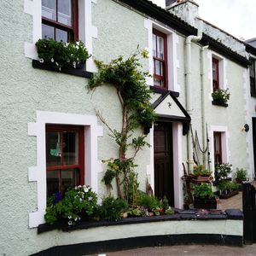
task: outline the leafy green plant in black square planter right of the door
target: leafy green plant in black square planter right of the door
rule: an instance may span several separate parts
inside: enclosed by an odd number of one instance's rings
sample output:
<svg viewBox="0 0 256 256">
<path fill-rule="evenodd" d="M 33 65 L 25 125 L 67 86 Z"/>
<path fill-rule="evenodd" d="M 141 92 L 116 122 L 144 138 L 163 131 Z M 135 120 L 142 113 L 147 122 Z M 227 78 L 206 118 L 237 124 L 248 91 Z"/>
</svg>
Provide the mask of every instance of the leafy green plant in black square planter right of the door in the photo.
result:
<svg viewBox="0 0 256 256">
<path fill-rule="evenodd" d="M 212 192 L 212 185 L 209 183 L 201 183 L 194 186 L 194 207 L 204 209 L 216 209 L 217 201 Z"/>
</svg>

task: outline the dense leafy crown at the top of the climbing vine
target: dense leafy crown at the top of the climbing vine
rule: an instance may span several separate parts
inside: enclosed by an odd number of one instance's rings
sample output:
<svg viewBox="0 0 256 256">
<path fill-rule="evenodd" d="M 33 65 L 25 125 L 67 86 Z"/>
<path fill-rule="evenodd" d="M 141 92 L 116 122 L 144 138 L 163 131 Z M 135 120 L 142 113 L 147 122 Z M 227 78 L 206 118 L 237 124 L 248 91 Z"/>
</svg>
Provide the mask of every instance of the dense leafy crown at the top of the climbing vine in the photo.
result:
<svg viewBox="0 0 256 256">
<path fill-rule="evenodd" d="M 90 79 L 88 89 L 93 90 L 103 83 L 112 84 L 122 97 L 122 103 L 129 112 L 130 129 L 138 126 L 149 127 L 155 120 L 150 103 L 150 90 L 146 84 L 147 72 L 141 71 L 138 55 L 148 57 L 145 50 L 139 51 L 127 60 L 120 55 L 108 64 L 96 61 L 99 73 Z"/>
</svg>

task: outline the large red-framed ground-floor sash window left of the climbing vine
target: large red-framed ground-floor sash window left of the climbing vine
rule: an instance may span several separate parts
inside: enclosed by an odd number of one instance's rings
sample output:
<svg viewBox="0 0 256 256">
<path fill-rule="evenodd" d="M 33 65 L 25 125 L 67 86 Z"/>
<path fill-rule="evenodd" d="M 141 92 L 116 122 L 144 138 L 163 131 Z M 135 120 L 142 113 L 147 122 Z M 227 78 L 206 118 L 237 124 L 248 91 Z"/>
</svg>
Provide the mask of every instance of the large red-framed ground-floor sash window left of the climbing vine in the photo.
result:
<svg viewBox="0 0 256 256">
<path fill-rule="evenodd" d="M 84 127 L 46 125 L 47 196 L 84 185 Z"/>
</svg>

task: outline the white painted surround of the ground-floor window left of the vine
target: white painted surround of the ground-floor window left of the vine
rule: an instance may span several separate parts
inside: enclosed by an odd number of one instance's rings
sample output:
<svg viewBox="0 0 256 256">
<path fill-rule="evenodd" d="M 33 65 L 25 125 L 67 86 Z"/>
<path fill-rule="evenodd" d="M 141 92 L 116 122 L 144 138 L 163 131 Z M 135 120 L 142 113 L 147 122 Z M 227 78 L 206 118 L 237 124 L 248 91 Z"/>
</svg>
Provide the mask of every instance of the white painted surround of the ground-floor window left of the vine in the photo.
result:
<svg viewBox="0 0 256 256">
<path fill-rule="evenodd" d="M 28 135 L 37 137 L 37 166 L 28 168 L 29 182 L 38 184 L 38 209 L 29 213 L 29 227 L 44 224 L 46 209 L 46 154 L 45 125 L 84 126 L 84 184 L 97 192 L 98 172 L 102 172 L 101 161 L 97 160 L 97 137 L 102 137 L 101 125 L 95 115 L 37 111 L 36 123 L 28 123 Z"/>
</svg>

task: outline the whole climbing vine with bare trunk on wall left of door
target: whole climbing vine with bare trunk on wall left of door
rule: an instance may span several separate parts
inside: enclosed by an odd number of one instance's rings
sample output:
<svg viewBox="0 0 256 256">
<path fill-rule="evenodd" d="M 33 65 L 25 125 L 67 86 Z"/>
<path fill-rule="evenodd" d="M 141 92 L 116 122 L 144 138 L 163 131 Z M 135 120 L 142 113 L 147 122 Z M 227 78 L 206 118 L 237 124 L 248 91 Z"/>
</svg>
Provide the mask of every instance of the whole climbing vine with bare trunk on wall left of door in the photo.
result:
<svg viewBox="0 0 256 256">
<path fill-rule="evenodd" d="M 122 108 L 121 131 L 112 129 L 101 113 L 96 111 L 119 147 L 119 158 L 108 160 L 108 170 L 103 181 L 108 188 L 112 188 L 111 183 L 115 178 L 119 197 L 132 204 L 137 203 L 139 185 L 134 160 L 139 150 L 149 146 L 143 133 L 139 137 L 134 137 L 133 131 L 138 128 L 143 131 L 143 128 L 151 127 L 155 119 L 154 109 L 150 103 L 150 90 L 145 80 L 148 72 L 142 71 L 140 57 L 148 58 L 148 52 L 137 48 L 137 51 L 126 60 L 120 55 L 108 64 L 96 61 L 99 72 L 94 74 L 88 84 L 88 90 L 95 90 L 104 84 L 111 84 L 116 89 Z M 134 152 L 130 157 L 127 156 L 128 148 L 133 148 Z"/>
</svg>

